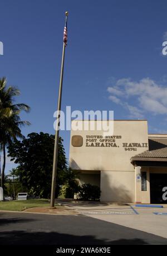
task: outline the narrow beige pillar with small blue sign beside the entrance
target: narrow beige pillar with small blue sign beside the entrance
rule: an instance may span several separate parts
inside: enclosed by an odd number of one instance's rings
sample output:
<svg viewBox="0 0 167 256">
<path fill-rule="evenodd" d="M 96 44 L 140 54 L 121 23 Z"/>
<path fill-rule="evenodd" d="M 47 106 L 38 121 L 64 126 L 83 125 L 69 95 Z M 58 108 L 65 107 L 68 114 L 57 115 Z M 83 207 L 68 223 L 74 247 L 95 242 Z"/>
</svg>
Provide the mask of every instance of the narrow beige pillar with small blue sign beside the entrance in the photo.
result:
<svg viewBox="0 0 167 256">
<path fill-rule="evenodd" d="M 141 203 L 141 167 L 135 166 L 135 201 Z"/>
</svg>

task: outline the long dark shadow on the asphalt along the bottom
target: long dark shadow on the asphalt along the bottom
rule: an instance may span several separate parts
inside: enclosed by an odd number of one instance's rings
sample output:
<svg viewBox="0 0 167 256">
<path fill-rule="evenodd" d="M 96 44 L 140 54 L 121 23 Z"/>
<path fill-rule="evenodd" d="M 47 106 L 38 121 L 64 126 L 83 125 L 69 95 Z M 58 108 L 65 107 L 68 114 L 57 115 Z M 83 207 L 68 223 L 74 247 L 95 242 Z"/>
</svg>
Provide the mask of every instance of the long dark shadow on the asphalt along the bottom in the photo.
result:
<svg viewBox="0 0 167 256">
<path fill-rule="evenodd" d="M 77 245 L 77 244 L 148 244 L 142 239 L 119 239 L 107 241 L 97 239 L 95 236 L 76 236 L 57 232 L 4 231 L 0 232 L 0 244 L 2 245 Z"/>
</svg>

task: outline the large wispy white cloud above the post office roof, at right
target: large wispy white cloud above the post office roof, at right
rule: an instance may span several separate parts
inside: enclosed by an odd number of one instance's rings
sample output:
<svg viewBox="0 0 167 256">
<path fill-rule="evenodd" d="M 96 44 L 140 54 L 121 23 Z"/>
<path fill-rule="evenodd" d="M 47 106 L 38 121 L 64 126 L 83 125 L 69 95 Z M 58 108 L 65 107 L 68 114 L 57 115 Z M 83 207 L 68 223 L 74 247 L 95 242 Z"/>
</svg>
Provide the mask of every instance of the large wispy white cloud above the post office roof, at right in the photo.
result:
<svg viewBox="0 0 167 256">
<path fill-rule="evenodd" d="M 143 78 L 139 82 L 122 78 L 114 86 L 108 87 L 107 91 L 111 101 L 122 105 L 135 118 L 143 117 L 143 112 L 167 114 L 167 88 L 150 78 Z M 129 105 L 131 99 L 135 99 L 135 106 Z"/>
</svg>

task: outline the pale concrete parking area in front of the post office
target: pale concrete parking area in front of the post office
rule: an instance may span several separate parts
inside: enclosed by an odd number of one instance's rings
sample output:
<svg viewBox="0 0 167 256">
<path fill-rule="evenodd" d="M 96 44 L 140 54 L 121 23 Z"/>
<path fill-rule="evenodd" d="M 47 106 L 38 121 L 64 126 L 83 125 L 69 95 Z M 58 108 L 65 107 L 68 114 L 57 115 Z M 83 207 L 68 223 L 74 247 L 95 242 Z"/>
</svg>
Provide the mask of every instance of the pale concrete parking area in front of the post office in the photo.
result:
<svg viewBox="0 0 167 256">
<path fill-rule="evenodd" d="M 144 231 L 167 238 L 167 205 L 164 208 L 135 207 L 128 204 L 101 202 L 65 202 L 65 206 L 94 219 Z M 154 213 L 158 213 L 158 215 Z"/>
</svg>

